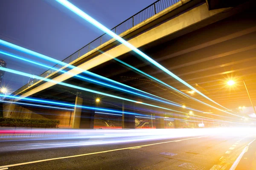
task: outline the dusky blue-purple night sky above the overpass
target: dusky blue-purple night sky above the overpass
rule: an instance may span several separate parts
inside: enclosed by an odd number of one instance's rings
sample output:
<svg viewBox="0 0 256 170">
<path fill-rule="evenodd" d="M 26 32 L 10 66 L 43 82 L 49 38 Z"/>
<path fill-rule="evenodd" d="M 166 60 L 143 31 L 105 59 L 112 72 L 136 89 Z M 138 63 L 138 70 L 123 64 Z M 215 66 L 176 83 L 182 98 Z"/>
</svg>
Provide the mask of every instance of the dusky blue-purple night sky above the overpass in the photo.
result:
<svg viewBox="0 0 256 170">
<path fill-rule="evenodd" d="M 70 0 L 108 28 L 113 28 L 154 1 Z M 102 34 L 104 33 L 98 28 L 80 19 L 54 0 L 0 0 L 0 39 L 52 58 L 63 60 Z M 0 46 L 0 50 L 44 62 L 3 46 Z M 6 61 L 7 68 L 29 74 L 41 74 L 48 70 L 2 54 L 0 58 Z M 2 86 L 15 91 L 28 80 L 29 77 L 6 72 Z"/>
</svg>

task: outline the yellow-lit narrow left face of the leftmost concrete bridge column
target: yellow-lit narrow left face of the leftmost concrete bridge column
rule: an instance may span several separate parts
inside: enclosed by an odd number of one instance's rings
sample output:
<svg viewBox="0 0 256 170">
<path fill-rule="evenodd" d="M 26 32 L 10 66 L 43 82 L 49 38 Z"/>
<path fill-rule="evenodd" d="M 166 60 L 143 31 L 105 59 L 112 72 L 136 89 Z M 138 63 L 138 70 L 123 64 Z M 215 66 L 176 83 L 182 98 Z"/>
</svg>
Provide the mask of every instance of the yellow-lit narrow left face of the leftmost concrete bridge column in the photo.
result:
<svg viewBox="0 0 256 170">
<path fill-rule="evenodd" d="M 82 108 L 77 108 L 76 105 L 82 105 L 82 104 L 83 104 L 83 98 L 81 98 L 80 96 L 77 95 L 76 102 L 75 102 L 74 114 L 73 114 L 72 128 L 75 128 L 75 129 L 80 128 Z"/>
</svg>

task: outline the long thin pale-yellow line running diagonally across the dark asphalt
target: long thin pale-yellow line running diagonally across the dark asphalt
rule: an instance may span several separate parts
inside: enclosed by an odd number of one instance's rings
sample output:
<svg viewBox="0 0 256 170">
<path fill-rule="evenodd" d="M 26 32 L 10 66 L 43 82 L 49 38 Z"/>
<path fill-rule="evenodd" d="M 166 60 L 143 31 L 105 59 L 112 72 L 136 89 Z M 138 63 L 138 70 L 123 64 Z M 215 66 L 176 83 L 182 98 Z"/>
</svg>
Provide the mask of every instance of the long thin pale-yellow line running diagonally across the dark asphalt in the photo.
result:
<svg viewBox="0 0 256 170">
<path fill-rule="evenodd" d="M 198 139 L 198 138 L 204 138 L 204 137 L 208 137 L 208 136 L 180 139 L 180 141 L 185 141 L 185 140 L 189 140 L 189 139 Z M 135 146 L 135 147 L 145 147 L 145 146 L 152 146 L 152 145 L 156 145 L 156 144 L 164 144 L 164 143 L 170 143 L 170 142 L 175 142 L 175 141 L 160 142 L 160 143 L 154 143 L 154 144 L 145 144 L 145 145 Z M 84 153 L 81 155 L 64 156 L 64 157 L 51 158 L 51 159 L 42 159 L 42 160 L 38 160 L 38 161 L 23 162 L 23 163 L 19 163 L 19 164 L 9 164 L 9 165 L 0 166 L 0 168 L 15 167 L 15 166 L 20 166 L 20 165 L 24 165 L 24 164 L 34 164 L 34 163 L 38 163 L 38 162 L 52 161 L 52 160 L 57 160 L 57 159 L 75 158 L 75 157 L 79 157 L 79 156 L 87 156 L 87 155 L 94 155 L 94 154 L 99 154 L 99 153 L 113 152 L 113 151 L 118 151 L 118 150 L 126 150 L 126 149 L 135 148 L 135 147 L 124 147 L 124 148 L 120 148 L 120 149 L 105 150 L 105 151 L 101 151 L 101 152 Z"/>
</svg>

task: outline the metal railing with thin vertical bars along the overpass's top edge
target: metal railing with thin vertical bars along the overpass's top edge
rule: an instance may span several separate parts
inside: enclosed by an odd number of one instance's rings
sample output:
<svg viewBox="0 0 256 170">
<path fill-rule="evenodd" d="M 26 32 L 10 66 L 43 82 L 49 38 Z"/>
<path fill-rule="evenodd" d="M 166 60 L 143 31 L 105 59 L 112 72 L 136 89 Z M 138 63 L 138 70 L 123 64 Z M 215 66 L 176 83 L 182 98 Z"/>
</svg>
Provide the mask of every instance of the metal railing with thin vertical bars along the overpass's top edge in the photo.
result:
<svg viewBox="0 0 256 170">
<path fill-rule="evenodd" d="M 142 23 L 143 21 L 147 20 L 148 18 L 152 17 L 153 15 L 159 13 L 160 11 L 163 11 L 164 9 L 168 8 L 169 6 L 172 6 L 173 4 L 179 2 L 180 0 L 157 0 L 155 3 L 152 3 L 150 6 L 144 8 L 137 14 L 133 15 L 132 17 L 128 18 L 124 22 L 120 23 L 118 26 L 115 26 L 111 31 L 113 31 L 116 34 L 122 34 L 123 32 L 127 31 L 128 29 L 136 26 L 139 23 Z M 62 60 L 62 62 L 70 63 L 73 62 L 75 59 L 78 59 L 79 57 L 83 56 L 87 52 L 99 47 L 100 45 L 104 44 L 105 42 L 108 42 L 111 40 L 112 37 L 108 34 L 103 34 L 102 36 L 96 38 L 96 40 L 93 40 L 89 44 L 85 45 L 83 48 L 79 49 L 66 59 Z M 56 69 L 62 68 L 64 65 L 62 64 L 56 64 L 53 66 L 55 69 L 49 69 L 45 71 L 43 74 L 40 75 L 40 77 L 47 77 L 48 75 L 52 74 L 56 71 Z M 39 79 L 32 80 L 33 84 L 35 82 L 38 82 Z M 29 83 L 19 88 L 15 93 L 19 93 L 20 91 L 25 90 L 29 87 Z"/>
</svg>

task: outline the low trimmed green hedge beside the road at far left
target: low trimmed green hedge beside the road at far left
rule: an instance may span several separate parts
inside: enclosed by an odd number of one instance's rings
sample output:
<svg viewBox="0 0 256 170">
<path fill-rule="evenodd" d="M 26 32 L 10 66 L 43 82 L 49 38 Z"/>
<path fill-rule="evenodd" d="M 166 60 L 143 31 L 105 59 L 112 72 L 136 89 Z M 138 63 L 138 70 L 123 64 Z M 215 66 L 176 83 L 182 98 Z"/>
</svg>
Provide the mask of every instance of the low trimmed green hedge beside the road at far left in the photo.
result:
<svg viewBox="0 0 256 170">
<path fill-rule="evenodd" d="M 13 119 L 0 117 L 0 126 L 8 127 L 58 127 L 59 120 Z"/>
</svg>

